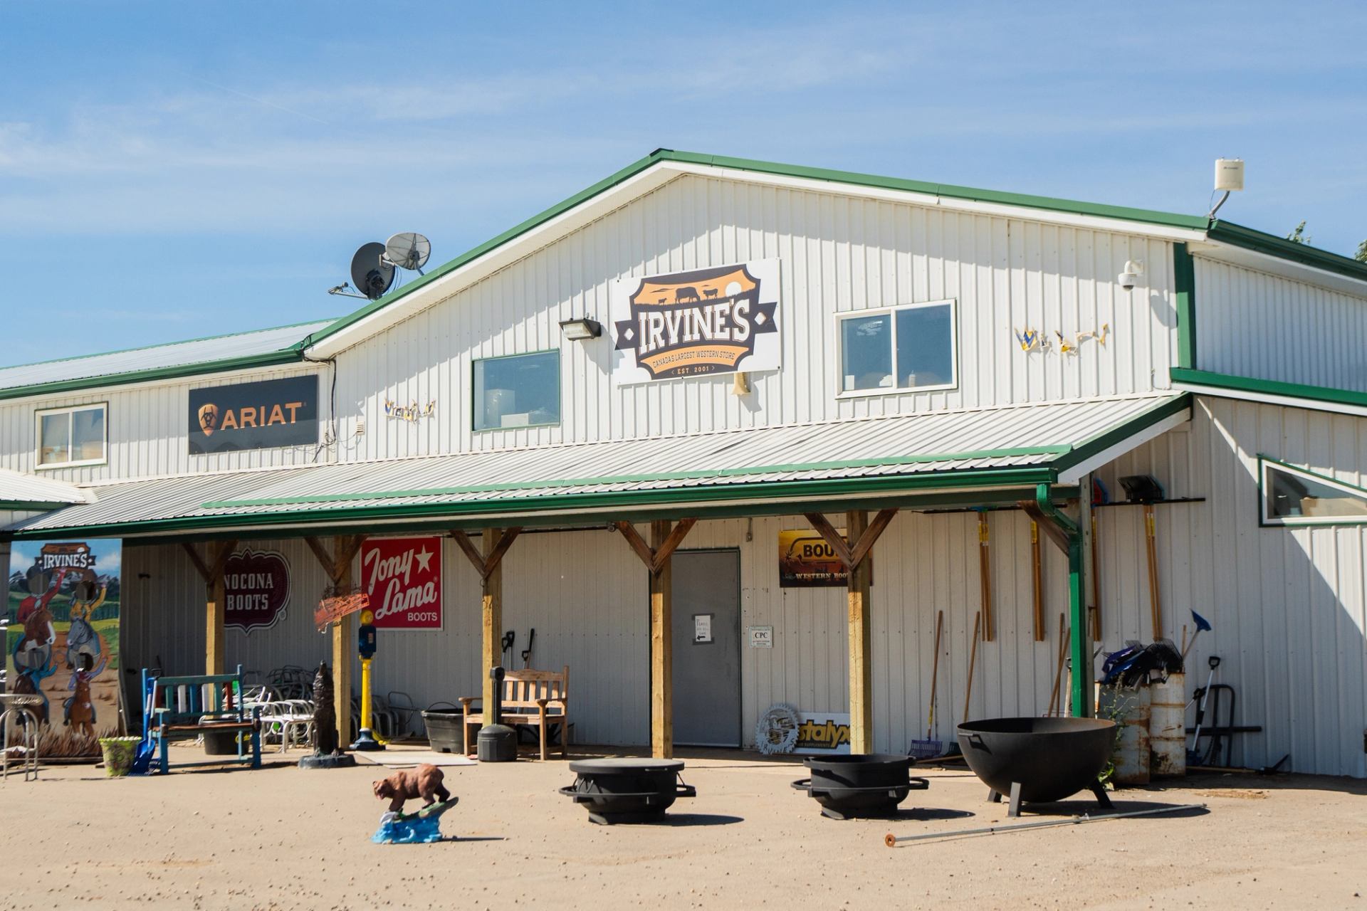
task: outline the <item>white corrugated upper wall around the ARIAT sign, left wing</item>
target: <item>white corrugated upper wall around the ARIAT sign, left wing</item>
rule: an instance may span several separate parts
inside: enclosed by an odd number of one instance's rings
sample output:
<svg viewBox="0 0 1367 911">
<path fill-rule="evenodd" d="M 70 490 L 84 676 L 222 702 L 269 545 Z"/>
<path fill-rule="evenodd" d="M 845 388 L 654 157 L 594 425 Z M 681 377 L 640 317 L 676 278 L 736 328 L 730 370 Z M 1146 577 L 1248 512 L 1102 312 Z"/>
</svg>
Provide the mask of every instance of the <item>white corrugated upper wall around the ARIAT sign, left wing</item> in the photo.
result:
<svg viewBox="0 0 1367 911">
<path fill-rule="evenodd" d="M 37 462 L 34 411 L 98 402 L 105 402 L 109 406 L 105 415 L 109 434 L 108 463 L 75 468 L 44 468 L 40 473 L 41 477 L 71 483 L 87 483 L 115 478 L 327 462 L 331 458 L 331 451 L 319 452 L 316 445 L 201 456 L 191 456 L 189 451 L 190 389 L 310 373 L 317 373 L 320 377 L 319 422 L 325 426 L 329 418 L 328 382 L 331 376 L 325 369 L 320 372 L 316 366 L 261 370 L 228 377 L 191 377 L 175 384 L 111 387 L 51 399 L 0 403 L 0 467 L 12 471 L 34 471 Z M 320 437 L 323 433 L 320 430 Z"/>
</svg>

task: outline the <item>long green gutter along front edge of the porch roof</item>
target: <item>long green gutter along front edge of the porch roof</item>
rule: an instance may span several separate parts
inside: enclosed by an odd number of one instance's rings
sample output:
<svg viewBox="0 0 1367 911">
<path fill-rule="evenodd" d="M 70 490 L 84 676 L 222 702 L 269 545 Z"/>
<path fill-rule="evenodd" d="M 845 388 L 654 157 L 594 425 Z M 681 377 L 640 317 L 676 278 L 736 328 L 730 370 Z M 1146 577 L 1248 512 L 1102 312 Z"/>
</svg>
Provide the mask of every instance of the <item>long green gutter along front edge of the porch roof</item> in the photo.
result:
<svg viewBox="0 0 1367 911">
<path fill-rule="evenodd" d="M 1024 486 L 1053 483 L 1055 473 L 1048 467 L 986 468 L 924 475 L 879 475 L 865 478 L 833 478 L 816 481 L 775 481 L 767 483 L 726 483 L 667 490 L 619 490 L 607 493 L 578 493 L 555 497 L 507 497 L 499 500 L 472 500 L 466 503 L 431 503 L 407 505 L 380 505 L 331 509 L 288 509 L 252 515 L 183 516 L 150 522 L 120 522 L 92 526 L 63 526 L 15 530 L 16 541 L 52 538 L 53 535 L 89 534 L 118 537 L 120 534 L 149 534 L 160 531 L 202 531 L 213 529 L 269 527 L 302 522 L 349 522 L 365 519 L 457 519 L 462 515 L 498 515 L 515 512 L 571 512 L 585 509 L 617 509 L 630 507 L 670 507 L 678 503 L 708 503 L 737 500 L 782 500 L 797 497 L 828 497 L 852 494 L 894 494 L 902 490 L 968 489 L 980 486 Z"/>
</svg>

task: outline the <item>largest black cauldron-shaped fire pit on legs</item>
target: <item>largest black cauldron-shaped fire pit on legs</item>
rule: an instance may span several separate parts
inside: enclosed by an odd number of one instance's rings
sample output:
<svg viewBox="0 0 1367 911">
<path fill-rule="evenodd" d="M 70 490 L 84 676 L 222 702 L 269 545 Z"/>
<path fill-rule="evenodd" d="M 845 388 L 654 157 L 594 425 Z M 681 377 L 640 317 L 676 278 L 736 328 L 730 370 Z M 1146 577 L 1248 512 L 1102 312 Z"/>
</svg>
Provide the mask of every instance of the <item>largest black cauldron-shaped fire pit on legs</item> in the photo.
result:
<svg viewBox="0 0 1367 911">
<path fill-rule="evenodd" d="M 987 718 L 958 725 L 958 746 L 968 768 L 991 791 L 1009 795 L 1007 815 L 1021 803 L 1062 800 L 1091 791 L 1110 807 L 1096 776 L 1115 746 L 1115 723 L 1099 718 Z"/>
</svg>

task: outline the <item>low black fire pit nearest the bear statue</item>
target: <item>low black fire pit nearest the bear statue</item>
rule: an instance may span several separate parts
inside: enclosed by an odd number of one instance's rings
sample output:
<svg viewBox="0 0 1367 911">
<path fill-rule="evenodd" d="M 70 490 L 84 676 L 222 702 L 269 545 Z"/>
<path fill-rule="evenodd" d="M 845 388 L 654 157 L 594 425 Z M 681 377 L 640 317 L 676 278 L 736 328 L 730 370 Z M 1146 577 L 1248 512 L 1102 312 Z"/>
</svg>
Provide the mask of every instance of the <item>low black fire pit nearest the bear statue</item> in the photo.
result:
<svg viewBox="0 0 1367 911">
<path fill-rule="evenodd" d="M 580 777 L 560 794 L 585 804 L 599 825 L 652 822 L 675 798 L 697 795 L 684 784 L 682 770 L 681 759 L 576 759 L 570 772 Z"/>
</svg>

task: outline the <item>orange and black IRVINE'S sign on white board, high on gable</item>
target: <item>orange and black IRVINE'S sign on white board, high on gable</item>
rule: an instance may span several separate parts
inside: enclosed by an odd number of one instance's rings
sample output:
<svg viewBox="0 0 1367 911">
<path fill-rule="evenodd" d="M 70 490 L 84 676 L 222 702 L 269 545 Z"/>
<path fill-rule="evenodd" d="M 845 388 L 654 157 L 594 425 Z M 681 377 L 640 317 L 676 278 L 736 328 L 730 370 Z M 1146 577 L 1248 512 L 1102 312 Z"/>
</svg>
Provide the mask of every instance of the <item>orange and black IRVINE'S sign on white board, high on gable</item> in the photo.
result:
<svg viewBox="0 0 1367 911">
<path fill-rule="evenodd" d="M 778 260 L 618 279 L 617 382 L 778 370 Z"/>
</svg>

